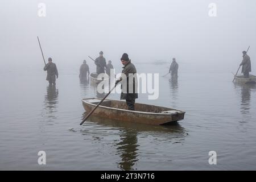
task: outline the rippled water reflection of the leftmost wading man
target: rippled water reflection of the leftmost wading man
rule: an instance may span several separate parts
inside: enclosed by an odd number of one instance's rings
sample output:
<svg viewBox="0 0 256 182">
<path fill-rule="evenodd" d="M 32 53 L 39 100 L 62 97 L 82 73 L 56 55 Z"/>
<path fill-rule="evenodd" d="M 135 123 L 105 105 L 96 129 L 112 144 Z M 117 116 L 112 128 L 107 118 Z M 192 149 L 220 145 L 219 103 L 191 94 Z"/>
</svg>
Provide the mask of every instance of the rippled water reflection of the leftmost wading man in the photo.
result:
<svg viewBox="0 0 256 182">
<path fill-rule="evenodd" d="M 48 118 L 48 121 L 52 121 L 52 119 L 56 118 L 54 113 L 57 112 L 59 91 L 58 89 L 56 89 L 55 85 L 49 85 L 46 88 L 46 92 L 47 94 L 44 100 L 44 110 L 46 113 L 46 117 Z"/>
</svg>

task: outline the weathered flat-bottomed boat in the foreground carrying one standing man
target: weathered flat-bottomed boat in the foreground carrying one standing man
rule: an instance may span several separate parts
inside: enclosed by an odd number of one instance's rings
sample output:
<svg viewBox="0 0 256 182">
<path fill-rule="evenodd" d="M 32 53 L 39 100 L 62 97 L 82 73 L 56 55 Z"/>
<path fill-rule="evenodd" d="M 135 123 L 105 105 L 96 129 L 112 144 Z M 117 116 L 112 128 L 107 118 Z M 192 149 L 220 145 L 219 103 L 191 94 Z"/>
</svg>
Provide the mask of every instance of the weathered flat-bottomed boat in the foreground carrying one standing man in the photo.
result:
<svg viewBox="0 0 256 182">
<path fill-rule="evenodd" d="M 82 99 L 86 111 L 92 110 L 101 100 L 97 98 Z M 105 100 L 94 111 L 99 117 L 117 119 L 119 121 L 163 125 L 184 119 L 184 111 L 147 104 L 135 103 L 135 111 L 127 110 L 125 101 Z"/>
</svg>

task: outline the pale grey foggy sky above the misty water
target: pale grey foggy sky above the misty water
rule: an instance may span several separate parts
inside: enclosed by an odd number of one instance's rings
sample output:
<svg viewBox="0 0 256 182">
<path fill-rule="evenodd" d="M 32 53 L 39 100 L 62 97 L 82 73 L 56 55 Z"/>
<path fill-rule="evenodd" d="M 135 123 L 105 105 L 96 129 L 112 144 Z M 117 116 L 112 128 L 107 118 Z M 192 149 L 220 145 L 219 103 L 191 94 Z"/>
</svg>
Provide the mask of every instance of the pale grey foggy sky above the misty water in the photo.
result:
<svg viewBox="0 0 256 182">
<path fill-rule="evenodd" d="M 40 2 L 46 3 L 46 17 L 38 16 Z M 208 15 L 212 2 L 217 17 Z M 180 63 L 236 72 L 242 51 L 250 46 L 255 73 L 255 10 L 254 0 L 4 0 L 0 70 L 42 69 L 39 36 L 44 56 L 60 69 L 79 67 L 84 59 L 93 65 L 88 55 L 96 58 L 104 51 L 115 67 L 121 67 L 119 59 L 127 52 L 134 63 L 176 57 Z"/>
</svg>

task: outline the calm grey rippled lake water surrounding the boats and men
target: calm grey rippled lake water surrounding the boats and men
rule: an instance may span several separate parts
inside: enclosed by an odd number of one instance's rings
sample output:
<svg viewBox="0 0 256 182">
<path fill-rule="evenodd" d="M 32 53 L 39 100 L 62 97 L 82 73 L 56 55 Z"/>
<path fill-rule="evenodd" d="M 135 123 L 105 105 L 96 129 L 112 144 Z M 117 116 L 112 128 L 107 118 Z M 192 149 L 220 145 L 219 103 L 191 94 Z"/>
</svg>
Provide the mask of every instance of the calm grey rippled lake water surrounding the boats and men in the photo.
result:
<svg viewBox="0 0 256 182">
<path fill-rule="evenodd" d="M 158 100 L 139 94 L 137 102 L 184 110 L 183 121 L 149 126 L 93 117 L 80 126 L 81 98 L 97 92 L 80 83 L 78 68 L 59 69 L 56 87 L 48 86 L 41 68 L 1 71 L 0 169 L 256 169 L 255 85 L 234 84 L 230 72 L 182 63 L 178 81 L 171 82 L 161 77 L 168 63 L 135 65 L 138 72 L 160 73 Z M 47 164 L 40 166 L 42 150 Z M 217 165 L 208 163 L 212 150 Z"/>
</svg>

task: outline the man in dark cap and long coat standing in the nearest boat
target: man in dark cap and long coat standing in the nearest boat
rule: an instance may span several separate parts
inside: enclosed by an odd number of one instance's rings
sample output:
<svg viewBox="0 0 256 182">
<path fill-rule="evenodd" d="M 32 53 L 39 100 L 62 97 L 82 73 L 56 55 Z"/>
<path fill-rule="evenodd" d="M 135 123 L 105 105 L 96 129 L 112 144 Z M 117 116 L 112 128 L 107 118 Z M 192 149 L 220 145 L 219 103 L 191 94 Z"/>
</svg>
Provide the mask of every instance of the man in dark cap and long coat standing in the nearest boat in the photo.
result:
<svg viewBox="0 0 256 182">
<path fill-rule="evenodd" d="M 126 104 L 129 110 L 135 110 L 134 109 L 135 99 L 138 98 L 137 74 L 136 74 L 137 71 L 134 64 L 131 63 L 131 60 L 129 59 L 129 56 L 127 55 L 127 53 L 123 53 L 121 57 L 121 61 L 122 61 L 122 64 L 124 65 L 122 70 L 122 76 L 115 82 L 115 84 L 118 84 L 119 81 L 122 81 L 122 85 L 121 85 L 122 93 L 121 93 L 120 99 L 126 100 Z"/>
</svg>

